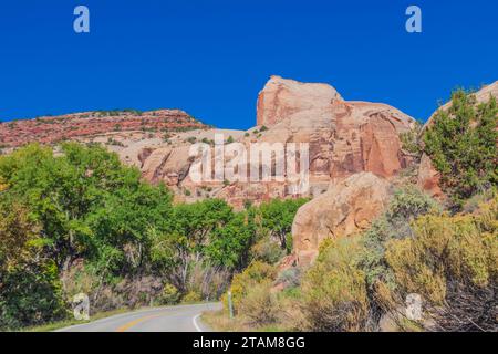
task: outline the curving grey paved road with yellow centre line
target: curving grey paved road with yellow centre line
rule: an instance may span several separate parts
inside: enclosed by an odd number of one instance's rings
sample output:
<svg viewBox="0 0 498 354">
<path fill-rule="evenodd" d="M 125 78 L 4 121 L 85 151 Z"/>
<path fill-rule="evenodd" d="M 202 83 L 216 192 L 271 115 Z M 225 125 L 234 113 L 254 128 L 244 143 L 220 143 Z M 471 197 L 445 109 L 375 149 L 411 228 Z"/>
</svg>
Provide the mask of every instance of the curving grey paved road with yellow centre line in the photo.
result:
<svg viewBox="0 0 498 354">
<path fill-rule="evenodd" d="M 209 332 L 209 327 L 200 322 L 200 314 L 219 309 L 219 303 L 207 303 L 139 310 L 58 332 Z"/>
</svg>

